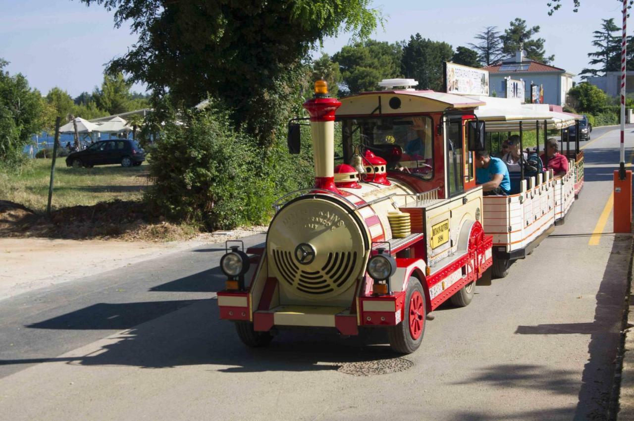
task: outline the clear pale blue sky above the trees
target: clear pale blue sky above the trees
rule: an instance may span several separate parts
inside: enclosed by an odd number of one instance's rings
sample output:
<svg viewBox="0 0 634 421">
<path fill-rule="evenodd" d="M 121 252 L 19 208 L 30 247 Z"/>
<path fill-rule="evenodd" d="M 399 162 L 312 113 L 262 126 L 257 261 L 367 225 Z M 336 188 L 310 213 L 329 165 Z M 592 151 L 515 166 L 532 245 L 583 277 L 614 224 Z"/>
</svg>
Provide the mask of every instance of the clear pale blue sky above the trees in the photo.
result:
<svg viewBox="0 0 634 421">
<path fill-rule="evenodd" d="M 572 0 L 548 16 L 547 0 L 375 1 L 385 15 L 385 29 L 373 36 L 381 41 L 401 41 L 420 32 L 423 37 L 446 41 L 453 48 L 467 46 L 484 26 L 500 30 L 521 17 L 530 26 L 540 25 L 546 52 L 555 55 L 557 67 L 579 73 L 593 51 L 592 31 L 601 18 L 615 18 L 620 26 L 620 2 L 582 0 L 578 13 Z M 101 84 L 103 67 L 114 56 L 124 55 L 135 41 L 129 27 L 114 29 L 112 13 L 101 6 L 86 7 L 79 0 L 0 0 L 0 57 L 8 70 L 24 74 L 31 86 L 46 94 L 53 86 L 73 96 Z M 630 22 L 634 28 L 634 22 Z M 628 31 L 631 34 L 631 30 Z M 337 52 L 349 41 L 343 34 L 325 41 L 323 51 Z M 318 55 L 318 53 L 315 53 Z M 143 91 L 143 87 L 134 89 Z"/>
</svg>

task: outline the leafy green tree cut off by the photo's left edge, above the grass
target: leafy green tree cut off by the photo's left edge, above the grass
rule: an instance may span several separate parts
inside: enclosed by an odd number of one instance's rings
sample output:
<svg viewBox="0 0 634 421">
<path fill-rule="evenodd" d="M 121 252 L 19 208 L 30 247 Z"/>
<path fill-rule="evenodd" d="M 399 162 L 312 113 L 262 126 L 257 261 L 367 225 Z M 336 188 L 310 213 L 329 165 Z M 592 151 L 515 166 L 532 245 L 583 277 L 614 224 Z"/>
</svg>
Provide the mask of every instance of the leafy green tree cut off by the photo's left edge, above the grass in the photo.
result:
<svg viewBox="0 0 634 421">
<path fill-rule="evenodd" d="M 0 165 L 13 167 L 22 162 L 30 136 L 44 126 L 43 101 L 22 74 L 4 71 L 6 65 L 0 58 Z"/>
</svg>

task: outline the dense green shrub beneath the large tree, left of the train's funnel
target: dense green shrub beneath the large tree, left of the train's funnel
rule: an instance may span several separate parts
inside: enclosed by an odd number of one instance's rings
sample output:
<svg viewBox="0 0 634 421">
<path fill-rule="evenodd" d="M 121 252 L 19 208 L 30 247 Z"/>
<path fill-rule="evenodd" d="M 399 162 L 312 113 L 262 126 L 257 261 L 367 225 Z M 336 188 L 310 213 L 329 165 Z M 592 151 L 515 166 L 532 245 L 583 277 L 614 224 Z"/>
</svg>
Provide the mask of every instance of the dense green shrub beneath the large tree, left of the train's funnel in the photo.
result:
<svg viewBox="0 0 634 421">
<path fill-rule="evenodd" d="M 206 230 L 262 224 L 278 197 L 311 185 L 309 145 L 300 155 L 288 155 L 285 139 L 262 148 L 214 107 L 183 117 L 164 127 L 152 151 L 146 200 L 154 212 Z"/>
</svg>

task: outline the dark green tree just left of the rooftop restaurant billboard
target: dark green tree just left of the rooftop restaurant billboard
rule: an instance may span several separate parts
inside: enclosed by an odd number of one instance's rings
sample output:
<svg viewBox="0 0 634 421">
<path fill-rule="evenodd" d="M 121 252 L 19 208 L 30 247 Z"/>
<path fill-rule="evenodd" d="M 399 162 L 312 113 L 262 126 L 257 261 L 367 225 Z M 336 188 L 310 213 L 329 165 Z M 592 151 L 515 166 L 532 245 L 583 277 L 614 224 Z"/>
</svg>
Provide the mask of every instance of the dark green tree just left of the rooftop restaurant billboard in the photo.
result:
<svg viewBox="0 0 634 421">
<path fill-rule="evenodd" d="M 410 37 L 403 48 L 401 71 L 413 77 L 421 89 L 443 89 L 443 62 L 453 57 L 453 49 L 446 42 L 424 39 L 420 34 Z"/>
</svg>

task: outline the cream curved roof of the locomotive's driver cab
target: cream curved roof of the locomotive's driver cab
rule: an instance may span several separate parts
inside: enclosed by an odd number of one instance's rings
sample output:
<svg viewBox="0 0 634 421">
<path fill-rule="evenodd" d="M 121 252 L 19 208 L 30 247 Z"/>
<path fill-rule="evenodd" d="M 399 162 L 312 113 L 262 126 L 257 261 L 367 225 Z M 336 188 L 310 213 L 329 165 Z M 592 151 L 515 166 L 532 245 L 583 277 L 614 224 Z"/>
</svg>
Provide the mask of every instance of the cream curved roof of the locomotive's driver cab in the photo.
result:
<svg viewBox="0 0 634 421">
<path fill-rule="evenodd" d="M 398 101 L 392 100 L 398 98 Z M 392 100 L 392 102 L 391 102 Z M 484 105 L 484 101 L 467 96 L 434 91 L 378 91 L 340 98 L 341 107 L 337 117 L 371 115 L 406 114 L 422 112 L 443 112 L 450 109 L 475 108 Z M 394 108 L 392 108 L 394 107 Z"/>
</svg>

